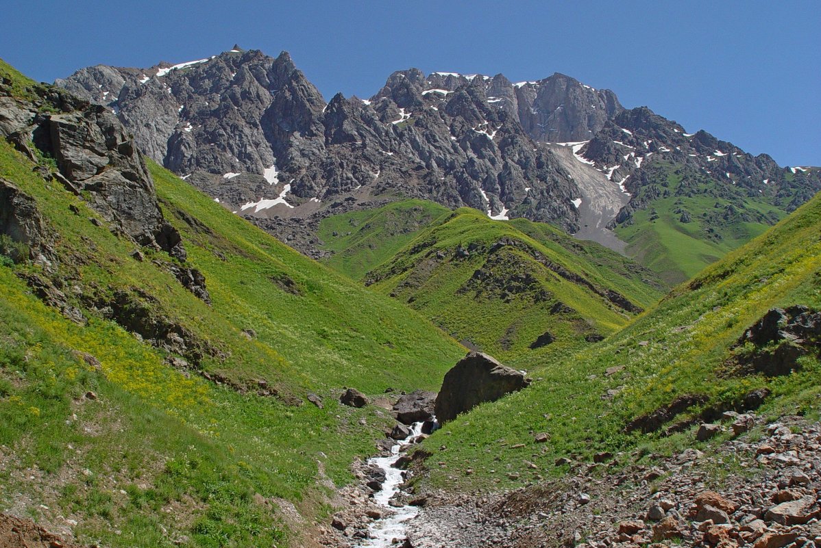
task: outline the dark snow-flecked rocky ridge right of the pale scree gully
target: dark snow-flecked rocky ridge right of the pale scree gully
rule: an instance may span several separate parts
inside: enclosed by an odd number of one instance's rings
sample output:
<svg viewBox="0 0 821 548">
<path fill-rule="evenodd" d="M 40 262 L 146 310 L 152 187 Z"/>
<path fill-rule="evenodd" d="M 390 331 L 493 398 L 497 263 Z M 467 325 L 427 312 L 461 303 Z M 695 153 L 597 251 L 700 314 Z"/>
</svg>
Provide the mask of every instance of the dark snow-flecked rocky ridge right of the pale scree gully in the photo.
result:
<svg viewBox="0 0 821 548">
<path fill-rule="evenodd" d="M 615 218 L 617 223 L 626 222 L 636 209 L 664 195 L 670 167 L 681 176 L 683 190 L 679 192 L 763 197 L 782 211 L 795 210 L 821 190 L 817 169 L 782 168 L 767 154 L 753 156 L 704 130 L 687 134 L 681 125 L 646 106 L 621 111 L 578 147 L 580 161 L 588 162 L 631 197 Z"/>
</svg>

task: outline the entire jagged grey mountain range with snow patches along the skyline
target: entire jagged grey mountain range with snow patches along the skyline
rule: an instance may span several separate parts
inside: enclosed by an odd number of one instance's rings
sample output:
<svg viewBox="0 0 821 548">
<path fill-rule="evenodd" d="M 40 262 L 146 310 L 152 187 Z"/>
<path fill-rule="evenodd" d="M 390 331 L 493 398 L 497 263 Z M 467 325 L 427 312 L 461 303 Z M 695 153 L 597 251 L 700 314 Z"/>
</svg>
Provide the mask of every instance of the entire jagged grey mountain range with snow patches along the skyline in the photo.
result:
<svg viewBox="0 0 821 548">
<path fill-rule="evenodd" d="M 689 174 L 692 192 L 741 188 L 784 211 L 821 188 L 817 170 L 686 134 L 560 74 L 513 84 L 401 70 L 367 100 L 326 103 L 287 52 L 235 47 L 175 66 L 93 66 L 57 84 L 105 105 L 146 154 L 232 211 L 268 229 L 266 218 L 284 219 L 281 237 L 340 207 L 402 195 L 553 222 L 621 250 L 608 227 L 663 192 L 659 164 Z"/>
</svg>

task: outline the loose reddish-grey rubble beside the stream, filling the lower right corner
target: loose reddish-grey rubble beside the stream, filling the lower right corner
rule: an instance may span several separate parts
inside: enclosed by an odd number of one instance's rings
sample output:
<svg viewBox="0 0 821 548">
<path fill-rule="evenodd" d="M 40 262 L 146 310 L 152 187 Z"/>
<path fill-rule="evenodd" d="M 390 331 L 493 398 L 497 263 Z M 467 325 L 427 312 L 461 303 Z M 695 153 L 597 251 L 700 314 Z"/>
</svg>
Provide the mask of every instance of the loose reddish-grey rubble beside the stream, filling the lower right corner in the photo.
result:
<svg viewBox="0 0 821 548">
<path fill-rule="evenodd" d="M 821 546 L 821 423 L 732 412 L 723 419 L 698 428 L 734 436 L 708 452 L 690 447 L 623 468 L 638 455 L 603 454 L 516 491 L 406 496 L 422 510 L 397 546 Z M 349 488 L 348 507 L 325 528 L 326 546 L 355 546 L 384 513 L 370 501 L 368 471 L 357 473 L 362 486 Z"/>
</svg>

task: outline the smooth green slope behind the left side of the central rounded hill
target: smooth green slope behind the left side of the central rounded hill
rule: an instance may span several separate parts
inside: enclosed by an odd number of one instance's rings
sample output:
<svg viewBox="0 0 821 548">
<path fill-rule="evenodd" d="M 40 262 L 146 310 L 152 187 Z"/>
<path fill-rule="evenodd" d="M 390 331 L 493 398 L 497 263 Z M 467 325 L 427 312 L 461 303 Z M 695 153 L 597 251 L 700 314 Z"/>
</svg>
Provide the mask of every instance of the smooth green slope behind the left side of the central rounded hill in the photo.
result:
<svg viewBox="0 0 821 548">
<path fill-rule="evenodd" d="M 362 279 L 449 212 L 436 202 L 402 200 L 366 211 L 331 215 L 319 223 L 323 249 L 333 252 L 324 262 L 351 279 Z"/>
</svg>

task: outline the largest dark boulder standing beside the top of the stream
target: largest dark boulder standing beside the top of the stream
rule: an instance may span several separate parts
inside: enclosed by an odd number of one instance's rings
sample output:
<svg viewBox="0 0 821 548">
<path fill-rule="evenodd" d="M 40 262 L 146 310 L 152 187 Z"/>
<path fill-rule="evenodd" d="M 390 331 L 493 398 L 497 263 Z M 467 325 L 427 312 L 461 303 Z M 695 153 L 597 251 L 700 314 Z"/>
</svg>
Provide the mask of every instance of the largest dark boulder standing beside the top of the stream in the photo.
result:
<svg viewBox="0 0 821 548">
<path fill-rule="evenodd" d="M 470 352 L 445 374 L 433 410 L 440 423 L 485 401 L 521 390 L 530 379 L 482 352 Z"/>
</svg>

